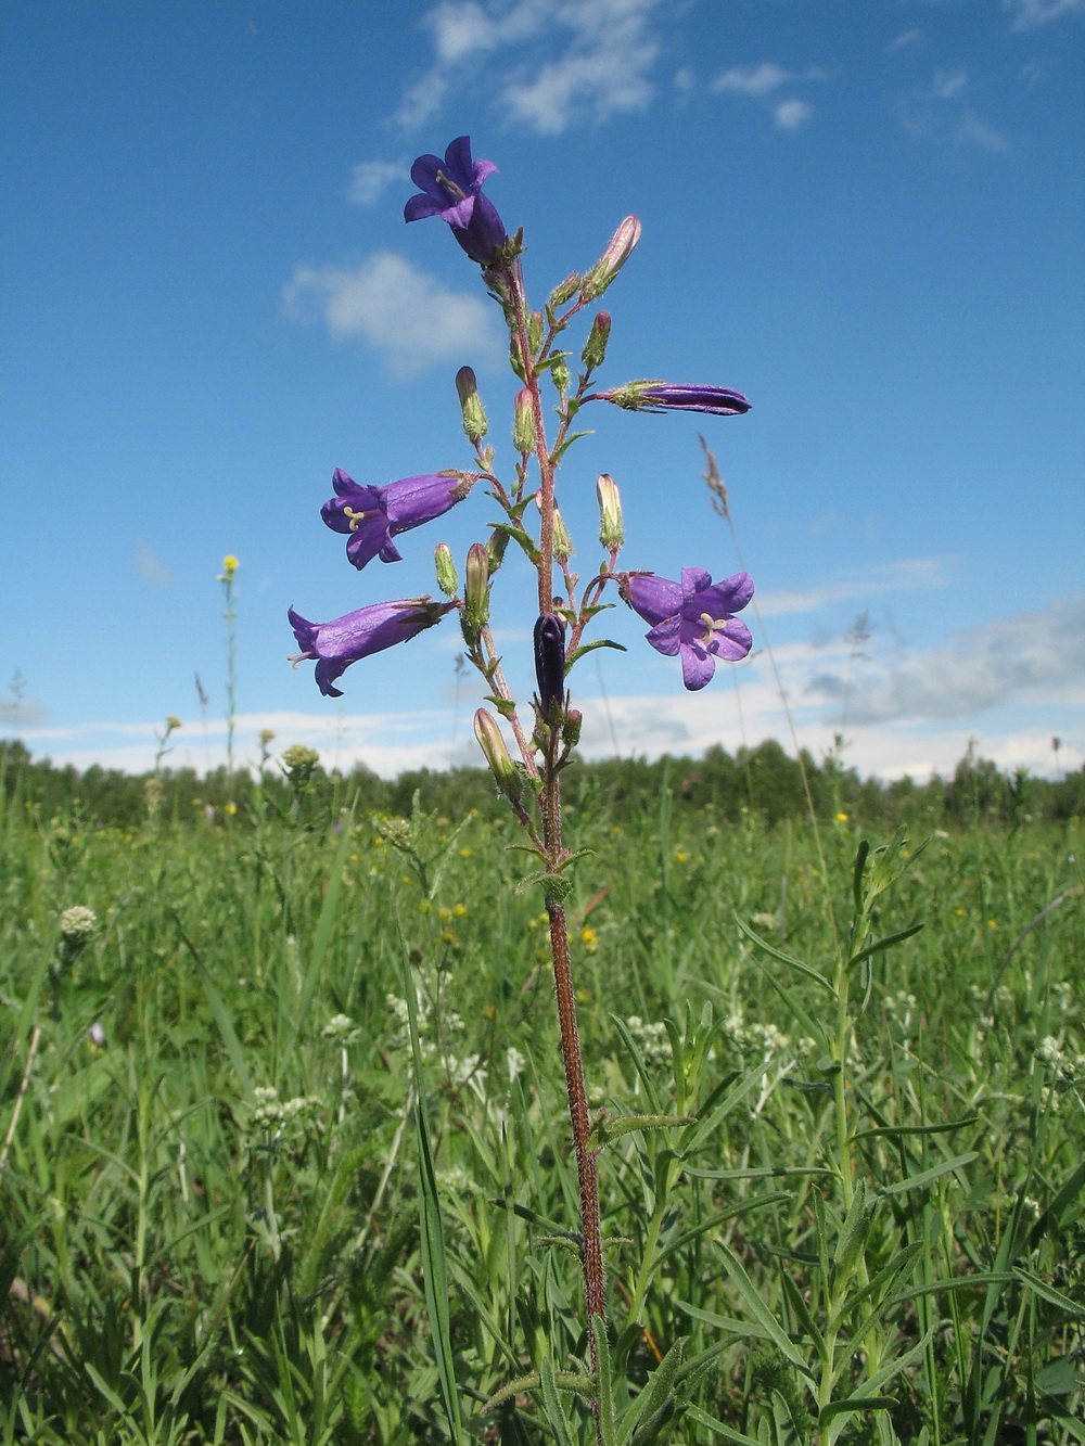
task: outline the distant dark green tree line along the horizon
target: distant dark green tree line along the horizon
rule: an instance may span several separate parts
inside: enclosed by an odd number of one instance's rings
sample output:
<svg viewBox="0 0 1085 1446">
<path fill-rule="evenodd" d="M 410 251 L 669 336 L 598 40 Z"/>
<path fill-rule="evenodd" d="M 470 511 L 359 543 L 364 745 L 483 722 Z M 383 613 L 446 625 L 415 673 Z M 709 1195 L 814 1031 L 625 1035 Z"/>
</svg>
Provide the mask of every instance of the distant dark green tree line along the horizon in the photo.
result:
<svg viewBox="0 0 1085 1446">
<path fill-rule="evenodd" d="M 292 768 L 269 759 L 258 774 L 220 768 L 122 774 L 97 765 L 80 772 L 48 759 L 33 761 L 20 742 L 0 742 L 0 797 L 19 814 L 42 823 L 133 829 L 150 818 L 191 826 L 252 826 L 282 817 L 321 826 L 353 808 L 356 817 L 409 813 L 415 791 L 427 810 L 457 817 L 470 808 L 503 816 L 489 774 L 482 768 L 412 769 L 383 779 L 363 765 L 350 772 L 323 769 L 307 749 Z M 297 762 L 298 755 L 308 761 Z M 775 824 L 799 820 L 813 804 L 820 818 L 846 814 L 864 824 L 895 827 L 909 821 L 927 829 L 979 823 L 1014 826 L 1066 820 L 1085 813 L 1085 769 L 1052 781 L 1024 769 L 1008 775 L 969 750 L 952 778 L 927 784 L 900 778 L 859 778 L 843 766 L 839 750 L 817 762 L 803 753 L 801 766 L 768 739 L 735 755 L 710 748 L 702 758 L 664 756 L 577 762 L 566 774 L 566 805 L 618 823 L 644 818 L 667 800 L 676 816 L 710 813 L 720 820 L 755 817 Z M 809 801 L 807 801 L 809 790 Z"/>
</svg>

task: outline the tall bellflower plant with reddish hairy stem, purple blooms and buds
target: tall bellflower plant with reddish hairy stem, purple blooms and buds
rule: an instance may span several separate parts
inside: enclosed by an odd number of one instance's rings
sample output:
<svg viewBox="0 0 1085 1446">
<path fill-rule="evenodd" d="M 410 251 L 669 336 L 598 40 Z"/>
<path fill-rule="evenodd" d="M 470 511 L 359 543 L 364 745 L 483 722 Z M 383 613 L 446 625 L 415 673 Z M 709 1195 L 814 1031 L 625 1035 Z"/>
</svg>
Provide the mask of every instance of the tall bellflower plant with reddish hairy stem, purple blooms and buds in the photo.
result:
<svg viewBox="0 0 1085 1446">
<path fill-rule="evenodd" d="M 583 1272 L 584 1338 L 590 1355 L 590 1377 L 576 1381 L 570 1377 L 558 1384 L 583 1392 L 590 1403 L 599 1439 L 610 1440 L 613 1404 L 597 1155 L 608 1139 L 622 1132 L 677 1126 L 684 1121 L 655 1113 L 624 1121 L 610 1118 L 603 1124 L 589 1113 L 564 908 L 573 886 L 571 870 L 582 856 L 582 852 L 567 846 L 561 829 L 561 774 L 577 746 L 582 727 L 582 714 L 569 691 L 570 674 L 595 648 L 619 646 L 609 638 L 592 636 L 599 615 L 613 606 L 608 596 L 616 593 L 650 625 L 650 645 L 680 659 L 686 688 L 699 690 L 709 683 L 718 662 L 736 661 L 749 652 L 749 629 L 735 615 L 752 597 L 754 584 L 745 573 L 713 583 L 710 574 L 696 565 L 683 568 L 680 581 L 658 577 L 647 568 L 625 568 L 619 562 L 625 542 L 621 496 L 609 474 L 600 476 L 596 483 L 600 560 L 582 583 L 570 565 L 573 542 L 558 508 L 557 474 L 570 448 L 586 435 L 576 427 L 579 414 L 592 402 L 610 402 L 635 412 L 674 409 L 716 416 L 741 415 L 749 409 L 749 402 L 726 388 L 661 380 L 631 380 L 599 389 L 597 376 L 606 360 L 612 318 L 608 311 L 592 308 L 632 254 L 641 224 L 635 217 L 622 220 L 599 260 L 584 272 L 570 273 L 550 292 L 542 307 L 535 308 L 528 299 L 521 265 L 522 231 L 508 233 L 482 189 L 495 171 L 492 162 L 472 158 L 466 136 L 453 140 L 443 159 L 420 156 L 411 171 L 418 194 L 408 200 L 405 220 L 440 217 L 467 257 L 480 266 L 480 279 L 501 308 L 516 382 L 508 467 L 499 470 L 498 450 L 488 441 L 489 422 L 475 373 L 461 367 L 456 389 L 463 431 L 472 448 L 470 466 L 443 467 L 386 486 L 354 482 L 337 469 L 333 476 L 334 496 L 324 503 L 321 516 L 328 528 L 347 536 L 347 558 L 359 570 L 378 557 L 383 562 L 399 561 L 393 538 L 434 521 L 476 490 L 496 503 L 501 521 L 490 522 L 489 536 L 467 549 L 461 576 L 450 548 L 437 545 L 434 562 L 443 602 L 428 596 L 366 602 L 328 623 L 312 623 L 291 609 L 289 622 L 301 649 L 292 661 L 314 661 L 321 693 L 339 697 L 336 684 L 352 664 L 408 642 L 450 613 L 457 615 L 467 659 L 482 678 L 489 704 L 477 710 L 475 733 L 498 790 L 524 830 L 521 847 L 534 862 L 521 889 L 541 888 L 550 931 L 577 1168 L 580 1222 L 573 1239 Z M 586 335 L 577 359 L 569 347 L 567 334 L 574 322 L 584 321 Z M 583 487 L 583 479 L 573 474 L 570 486 Z M 490 626 L 493 586 L 509 547 L 519 548 L 538 578 L 532 629 L 538 691 L 527 704 L 514 697 L 508 685 Z M 389 833 L 389 840 L 420 869 L 425 892 L 425 870 L 420 868 L 422 860 L 414 846 L 414 834 L 401 840 Z M 409 989 L 408 1002 L 414 1004 Z M 420 1150 L 427 1152 L 421 1137 Z M 431 1264 L 440 1268 L 437 1257 L 431 1258 Z M 438 1326 L 440 1320 L 434 1322 L 435 1330 Z M 629 1407 L 634 1414 L 625 1429 L 632 1432 L 639 1426 L 637 1440 L 651 1439 L 664 1424 L 660 1419 L 648 1432 L 652 1411 L 673 1394 L 678 1356 L 680 1351 L 664 1361 L 652 1390 L 642 1392 Z M 563 1408 L 557 1403 L 556 1377 L 547 1361 L 529 1378 L 528 1387 L 541 1394 L 547 1419 L 560 1432 Z M 446 1378 L 446 1408 L 456 1436 L 459 1414 L 451 1400 L 454 1394 Z"/>
</svg>

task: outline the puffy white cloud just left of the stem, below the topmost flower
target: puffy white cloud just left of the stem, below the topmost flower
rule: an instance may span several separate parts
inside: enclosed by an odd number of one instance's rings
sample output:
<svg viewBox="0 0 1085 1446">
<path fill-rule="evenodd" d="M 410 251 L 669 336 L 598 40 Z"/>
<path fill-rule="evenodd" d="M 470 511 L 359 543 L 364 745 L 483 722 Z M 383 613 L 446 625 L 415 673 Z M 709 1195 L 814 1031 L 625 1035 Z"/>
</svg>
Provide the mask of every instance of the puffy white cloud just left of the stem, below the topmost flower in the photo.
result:
<svg viewBox="0 0 1085 1446">
<path fill-rule="evenodd" d="M 359 266 L 299 265 L 282 292 L 286 315 L 323 320 L 336 340 L 360 337 L 383 353 L 396 376 L 435 362 L 499 354 L 489 308 L 480 296 L 448 291 L 402 256 L 376 252 Z"/>
</svg>

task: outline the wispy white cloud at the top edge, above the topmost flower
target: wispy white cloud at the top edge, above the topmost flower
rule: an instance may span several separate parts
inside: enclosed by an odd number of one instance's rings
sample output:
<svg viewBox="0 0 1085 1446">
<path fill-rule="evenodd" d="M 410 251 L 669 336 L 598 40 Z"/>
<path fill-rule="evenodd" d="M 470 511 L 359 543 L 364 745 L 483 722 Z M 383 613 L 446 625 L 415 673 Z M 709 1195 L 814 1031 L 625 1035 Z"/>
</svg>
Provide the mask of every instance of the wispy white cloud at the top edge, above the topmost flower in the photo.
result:
<svg viewBox="0 0 1085 1446">
<path fill-rule="evenodd" d="M 405 93 L 393 120 L 417 130 L 456 84 L 477 87 L 499 54 L 495 108 L 538 134 L 647 108 L 660 55 L 652 19 L 663 0 L 441 0 L 421 20 L 434 64 Z M 515 48 L 509 59 L 503 52 Z M 525 52 L 528 52 L 525 55 Z"/>
</svg>

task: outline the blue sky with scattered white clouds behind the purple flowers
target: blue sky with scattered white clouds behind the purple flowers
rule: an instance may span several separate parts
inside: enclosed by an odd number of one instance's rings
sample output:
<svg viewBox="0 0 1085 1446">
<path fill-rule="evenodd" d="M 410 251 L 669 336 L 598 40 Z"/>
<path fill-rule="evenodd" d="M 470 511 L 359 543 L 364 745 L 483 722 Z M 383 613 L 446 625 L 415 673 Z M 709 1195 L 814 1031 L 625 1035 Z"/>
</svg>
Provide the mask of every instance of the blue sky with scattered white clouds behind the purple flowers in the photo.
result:
<svg viewBox="0 0 1085 1446">
<path fill-rule="evenodd" d="M 467 133 L 537 304 L 641 217 L 605 382 L 754 403 L 586 414 L 582 568 L 605 470 L 626 567 L 738 570 L 700 422 L 760 604 L 699 694 L 606 615 L 629 651 L 573 674 L 589 752 L 786 742 L 771 648 L 801 740 L 843 729 L 862 772 L 969 737 L 1085 761 L 1085 0 L 9 0 L 0 56 L 0 733 L 143 768 L 172 713 L 171 762 L 221 761 L 233 552 L 242 758 L 271 727 L 383 772 L 473 759 L 454 622 L 340 703 L 285 662 L 288 604 L 433 591 L 433 545 L 496 515 L 476 492 L 362 574 L 318 515 L 337 466 L 470 466 L 463 363 L 509 470 L 501 318 L 444 226 L 402 221 L 412 158 Z M 531 580 L 501 584 L 524 697 Z"/>
</svg>

